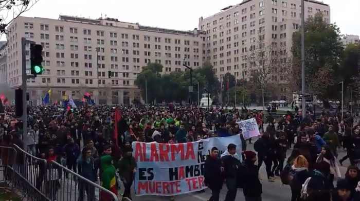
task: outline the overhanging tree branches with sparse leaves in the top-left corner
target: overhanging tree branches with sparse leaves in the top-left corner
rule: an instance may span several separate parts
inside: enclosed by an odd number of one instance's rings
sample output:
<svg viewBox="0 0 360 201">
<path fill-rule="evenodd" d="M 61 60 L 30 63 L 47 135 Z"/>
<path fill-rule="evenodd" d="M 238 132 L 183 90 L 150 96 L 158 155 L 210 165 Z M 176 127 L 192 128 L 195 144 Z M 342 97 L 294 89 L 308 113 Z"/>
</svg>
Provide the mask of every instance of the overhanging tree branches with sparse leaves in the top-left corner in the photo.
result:
<svg viewBox="0 0 360 201">
<path fill-rule="evenodd" d="M 0 19 L 0 33 L 7 33 L 6 27 L 11 24 L 14 19 L 24 12 L 31 9 L 39 0 L 6 0 L 0 1 L 0 11 L 3 13 Z M 6 14 L 4 12 L 7 12 Z M 12 13 L 11 13 L 12 12 Z M 8 18 L 12 16 L 12 18 Z"/>
</svg>

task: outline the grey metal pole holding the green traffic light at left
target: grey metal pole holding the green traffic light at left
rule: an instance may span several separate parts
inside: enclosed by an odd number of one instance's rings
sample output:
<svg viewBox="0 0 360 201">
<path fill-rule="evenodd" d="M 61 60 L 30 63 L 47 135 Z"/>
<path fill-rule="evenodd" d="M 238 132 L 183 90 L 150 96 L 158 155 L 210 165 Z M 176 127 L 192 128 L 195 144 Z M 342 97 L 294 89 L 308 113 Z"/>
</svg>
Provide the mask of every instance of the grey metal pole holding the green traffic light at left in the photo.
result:
<svg viewBox="0 0 360 201">
<path fill-rule="evenodd" d="M 27 103 L 26 103 L 26 81 L 28 78 L 34 78 L 34 75 L 27 75 L 26 73 L 26 44 L 36 44 L 33 41 L 28 41 L 25 37 L 21 38 L 21 56 L 22 56 L 22 85 L 21 89 L 23 90 L 23 137 L 27 135 Z M 24 144 L 24 150 L 27 149 L 27 145 Z"/>
</svg>

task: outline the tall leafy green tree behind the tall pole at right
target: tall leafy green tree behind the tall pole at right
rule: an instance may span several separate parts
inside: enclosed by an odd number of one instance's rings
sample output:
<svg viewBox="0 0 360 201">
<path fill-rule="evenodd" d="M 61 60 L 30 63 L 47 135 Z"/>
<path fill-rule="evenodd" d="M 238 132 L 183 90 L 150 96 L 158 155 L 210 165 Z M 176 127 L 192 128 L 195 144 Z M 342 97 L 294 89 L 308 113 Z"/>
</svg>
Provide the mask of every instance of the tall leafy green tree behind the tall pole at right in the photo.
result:
<svg viewBox="0 0 360 201">
<path fill-rule="evenodd" d="M 344 51 L 340 30 L 335 24 L 323 21 L 323 14 L 317 13 L 305 22 L 305 79 L 309 92 L 320 98 L 337 97 L 337 83 L 341 79 L 341 54 Z M 301 61 L 301 33 L 293 34 L 292 54 L 294 61 Z M 299 64 L 301 65 L 301 64 Z M 324 73 L 322 75 L 315 75 Z M 299 74 L 301 77 L 301 74 Z M 323 82 L 318 77 L 326 78 Z M 314 87 L 314 89 L 312 88 Z M 335 90 L 335 91 L 334 91 Z"/>
</svg>

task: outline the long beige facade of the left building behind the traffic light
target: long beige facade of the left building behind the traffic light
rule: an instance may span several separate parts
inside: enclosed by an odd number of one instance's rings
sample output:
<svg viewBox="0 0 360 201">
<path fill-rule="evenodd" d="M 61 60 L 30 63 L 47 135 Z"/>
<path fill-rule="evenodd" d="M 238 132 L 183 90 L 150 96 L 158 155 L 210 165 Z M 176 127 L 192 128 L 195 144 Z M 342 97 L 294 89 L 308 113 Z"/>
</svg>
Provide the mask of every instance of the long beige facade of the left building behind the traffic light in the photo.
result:
<svg viewBox="0 0 360 201">
<path fill-rule="evenodd" d="M 32 104 L 41 103 L 41 96 L 51 89 L 54 100 L 65 94 L 81 99 L 88 92 L 100 104 L 129 105 L 134 98 L 142 101 L 134 85 L 142 66 L 161 63 L 167 73 L 184 70 L 183 59 L 194 68 L 203 63 L 205 32 L 197 29 L 178 31 L 109 17 L 64 15 L 59 19 L 18 17 L 8 29 L 6 81 L 11 88 L 22 84 L 21 37 L 43 46 L 45 71 L 27 81 Z M 29 45 L 26 48 L 29 74 Z"/>
</svg>

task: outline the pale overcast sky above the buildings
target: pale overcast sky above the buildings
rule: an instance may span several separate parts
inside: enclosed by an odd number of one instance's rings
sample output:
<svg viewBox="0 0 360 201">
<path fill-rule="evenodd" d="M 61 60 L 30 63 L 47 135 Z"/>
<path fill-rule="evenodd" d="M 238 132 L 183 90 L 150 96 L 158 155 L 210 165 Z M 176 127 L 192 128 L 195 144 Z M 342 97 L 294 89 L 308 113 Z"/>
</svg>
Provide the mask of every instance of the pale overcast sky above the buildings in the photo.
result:
<svg viewBox="0 0 360 201">
<path fill-rule="evenodd" d="M 31 2 L 35 0 L 30 0 Z M 23 13 L 28 17 L 59 18 L 59 15 L 81 16 L 89 18 L 111 17 L 122 22 L 139 23 L 144 26 L 161 27 L 177 30 L 193 30 L 198 27 L 201 16 L 208 17 L 221 9 L 241 3 L 242 0 L 205 1 L 205 0 L 36 0 L 29 11 Z M 267 0 L 270 1 L 270 0 Z M 280 0 L 281 1 L 281 0 Z M 331 23 L 336 23 L 341 34 L 360 35 L 360 1 L 359 0 L 324 0 L 331 8 Z M 300 4 L 300 1 L 299 1 Z M 19 9 L 14 9 L 19 13 Z M 8 16 L 13 12 L 0 11 Z M 1 39 L 5 39 L 4 36 Z"/>
</svg>

